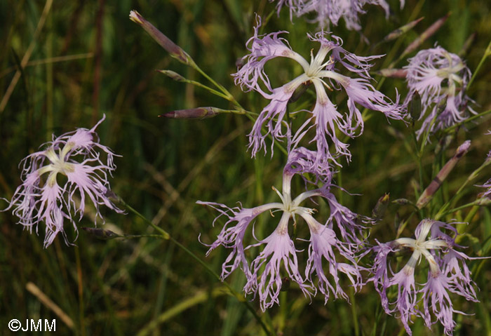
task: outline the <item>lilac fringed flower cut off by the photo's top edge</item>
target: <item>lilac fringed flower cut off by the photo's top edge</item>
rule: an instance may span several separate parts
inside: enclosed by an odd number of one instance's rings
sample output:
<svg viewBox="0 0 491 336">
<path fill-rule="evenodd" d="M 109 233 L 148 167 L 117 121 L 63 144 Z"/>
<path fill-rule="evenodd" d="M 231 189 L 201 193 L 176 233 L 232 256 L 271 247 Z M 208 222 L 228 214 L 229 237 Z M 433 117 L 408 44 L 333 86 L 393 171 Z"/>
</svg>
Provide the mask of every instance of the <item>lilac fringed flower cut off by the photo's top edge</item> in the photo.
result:
<svg viewBox="0 0 491 336">
<path fill-rule="evenodd" d="M 363 7 L 366 4 L 381 6 L 386 16 L 389 16 L 389 4 L 385 0 L 278 0 L 277 2 L 278 14 L 281 7 L 286 5 L 290 8 L 290 17 L 309 15 L 314 18 L 312 22 L 317 22 L 322 29 L 329 29 L 330 24 L 337 26 L 339 19 L 343 18 L 347 29 L 361 30 L 358 15 L 365 14 Z M 401 8 L 404 2 L 405 0 L 401 0 Z"/>
</svg>

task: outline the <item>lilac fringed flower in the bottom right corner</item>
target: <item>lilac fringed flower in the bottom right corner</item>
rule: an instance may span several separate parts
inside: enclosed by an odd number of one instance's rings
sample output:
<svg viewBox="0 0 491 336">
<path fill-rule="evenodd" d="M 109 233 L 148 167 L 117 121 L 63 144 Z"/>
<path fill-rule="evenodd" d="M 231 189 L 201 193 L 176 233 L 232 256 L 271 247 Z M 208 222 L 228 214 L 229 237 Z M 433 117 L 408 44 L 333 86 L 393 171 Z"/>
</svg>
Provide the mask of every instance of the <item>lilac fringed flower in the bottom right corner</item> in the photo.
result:
<svg viewBox="0 0 491 336">
<path fill-rule="evenodd" d="M 414 239 L 398 238 L 390 243 L 377 242 L 378 246 L 373 248 L 377 255 L 370 281 L 375 284 L 386 313 L 397 312 L 409 335 L 412 335 L 409 324 L 413 315 L 424 318 L 428 328 L 440 322 L 445 334 L 452 335 L 455 328 L 453 313 L 464 313 L 454 309 L 450 293 L 477 302 L 471 271 L 465 264 L 471 258 L 455 250 L 460 246 L 448 231 L 457 234 L 457 230 L 450 224 L 422 220 L 416 228 Z M 394 273 L 388 265 L 389 254 L 408 248 L 412 250 L 409 261 L 401 271 Z M 423 285 L 417 285 L 415 267 L 422 257 L 429 264 L 428 279 Z M 395 302 L 389 302 L 387 290 L 393 285 L 397 286 L 397 298 Z"/>
</svg>

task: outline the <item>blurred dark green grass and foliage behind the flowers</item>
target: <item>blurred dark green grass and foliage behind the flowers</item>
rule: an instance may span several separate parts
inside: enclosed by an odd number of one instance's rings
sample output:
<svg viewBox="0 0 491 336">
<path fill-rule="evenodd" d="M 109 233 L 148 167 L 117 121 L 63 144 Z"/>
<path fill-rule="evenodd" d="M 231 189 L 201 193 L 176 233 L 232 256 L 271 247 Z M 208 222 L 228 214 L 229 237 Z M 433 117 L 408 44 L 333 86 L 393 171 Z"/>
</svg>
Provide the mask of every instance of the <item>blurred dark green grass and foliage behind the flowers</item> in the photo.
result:
<svg viewBox="0 0 491 336">
<path fill-rule="evenodd" d="M 398 58 L 403 49 L 438 18 L 450 13 L 445 25 L 425 41 L 421 48 L 435 43 L 453 53 L 464 51 L 471 71 L 476 69 L 491 36 L 490 3 L 487 0 L 407 0 L 401 10 L 398 1 L 389 1 L 388 20 L 381 8 L 368 6 L 361 17 L 363 35 L 344 28 L 331 27 L 344 40 L 344 48 L 357 55 L 387 54 L 374 69 L 382 69 Z M 210 76 L 229 88 L 254 112 L 260 112 L 264 100 L 255 93 L 241 93 L 230 74 L 236 71 L 238 58 L 245 55 L 245 41 L 252 35 L 254 12 L 266 17 L 275 4 L 265 0 L 1 0 L 0 1 L 0 196 L 10 199 L 20 184 L 18 163 L 51 135 L 60 135 L 77 127 L 91 128 L 102 114 L 107 120 L 98 128 L 101 142 L 121 157 L 112 179 L 112 189 L 128 204 L 155 224 L 166 229 L 177 241 L 205 258 L 206 246 L 223 224 L 212 227 L 216 213 L 196 206 L 195 201 L 217 201 L 234 206 L 241 201 L 250 207 L 274 200 L 272 185 L 281 185 L 285 156 L 276 151 L 259 155 L 256 160 L 245 154 L 245 135 L 251 122 L 244 116 L 227 114 L 202 121 L 159 119 L 174 109 L 198 106 L 230 108 L 224 100 L 185 83 L 176 83 L 155 69 L 173 69 L 188 79 L 204 81 L 189 67 L 176 62 L 138 25 L 128 20 L 130 10 L 139 11 L 161 29 Z M 410 20 L 422 22 L 400 39 L 375 46 L 383 36 Z M 42 26 L 42 27 L 40 27 Z M 295 19 L 290 23 L 284 8 L 271 16 L 264 32 L 288 30 L 292 48 L 304 57 L 317 48 L 306 38 L 316 26 Z M 26 55 L 28 57 L 26 57 Z M 415 52 L 408 57 L 415 55 Z M 388 59 L 389 61 L 387 61 Z M 270 78 L 285 83 L 295 74 L 286 62 L 270 65 Z M 403 67 L 401 60 L 396 67 Z M 491 109 L 491 62 L 485 62 L 469 90 L 478 112 Z M 379 79 L 379 77 L 376 77 Z M 13 85 L 15 83 L 15 85 Z M 401 79 L 387 79 L 382 92 L 395 97 L 395 88 L 403 98 L 407 90 Z M 344 97 L 334 98 L 337 103 Z M 298 104 L 301 104 L 299 102 Z M 303 102 L 305 103 L 305 101 Z M 307 101 L 308 103 L 308 101 Z M 341 105 L 340 105 L 341 106 Z M 451 192 L 476 169 L 491 149 L 489 118 L 461 129 L 436 159 L 434 149 L 440 143 L 433 138 L 425 153 L 424 181 L 430 182 L 432 170 L 453 155 L 457 145 L 473 140 L 470 152 L 459 162 L 433 202 L 438 207 Z M 377 199 L 385 192 L 391 199 L 415 198 L 417 163 L 404 146 L 410 129 L 403 123 L 370 114 L 362 137 L 351 140 L 353 159 L 344 164 L 337 183 L 352 194 L 339 193 L 345 206 L 370 215 Z M 483 183 L 491 170 L 475 181 Z M 297 189 L 302 188 L 297 181 Z M 466 188 L 467 201 L 482 189 Z M 439 201 L 440 199 L 440 201 Z M 466 201 L 462 201 L 466 203 Z M 6 206 L 5 201 L 2 207 Z M 437 209 L 438 210 L 438 209 Z M 318 214 L 325 218 L 325 207 Z M 410 213 L 408 206 L 391 204 L 382 222 L 372 230 L 379 241 L 394 239 L 396 220 Z M 431 211 L 431 210 L 430 210 Z M 433 212 L 434 213 L 434 212 Z M 463 220 L 468 210 L 445 220 Z M 93 227 L 93 213 L 81 220 L 80 227 Z M 104 228 L 126 234 L 150 234 L 152 228 L 134 215 L 107 211 Z M 429 214 L 428 214 L 429 215 Z M 22 231 L 10 213 L 0 213 L 0 333 L 8 334 L 11 318 L 57 318 L 60 335 L 261 335 L 252 315 L 235 297 L 227 295 L 221 283 L 173 243 L 152 238 L 98 241 L 85 231 L 67 234 L 76 246 L 66 246 L 60 237 L 43 250 L 43 227 L 39 236 Z M 410 236 L 417 224 L 413 219 L 405 231 Z M 264 237 L 276 227 L 267 215 L 255 228 Z M 303 232 L 305 233 L 305 232 Z M 466 253 L 476 255 L 491 235 L 488 208 L 471 217 Z M 302 232 L 299 232 L 302 236 Z M 304 236 L 307 237 L 307 236 Z M 477 241 L 476 241 L 477 237 Z M 252 238 L 251 238 L 252 239 Z M 299 246 L 302 243 L 299 242 Z M 477 244 L 477 245 L 476 245 Z M 477 246 L 477 247 L 476 247 Z M 487 250 L 489 248 L 487 247 Z M 206 262 L 215 271 L 226 251 L 217 249 Z M 304 262 L 304 260 L 303 260 Z M 453 297 L 455 307 L 470 316 L 457 316 L 455 335 L 491 335 L 489 263 L 482 260 L 474 280 L 480 287 L 480 303 L 471 304 Z M 476 267 L 474 267 L 476 269 Z M 241 292 L 243 276 L 236 272 L 227 281 Z M 26 288 L 34 283 L 67 314 L 73 326 L 63 323 Z M 380 302 L 372 285 L 343 300 L 323 297 L 313 302 L 292 286 L 281 297 L 280 307 L 260 314 L 267 325 L 283 335 L 370 335 Z M 259 310 L 258 302 L 252 302 Z M 378 321 L 378 320 L 377 320 Z M 398 321 L 383 314 L 373 335 L 401 335 Z M 68 324 L 68 325 L 67 325 Z M 427 330 L 417 319 L 415 335 L 439 335 L 438 326 Z M 6 332 L 6 334 L 4 334 Z M 432 333 L 434 332 L 434 334 Z M 22 335 L 22 332 L 20 333 Z M 41 335 L 43 335 L 41 333 Z"/>
</svg>

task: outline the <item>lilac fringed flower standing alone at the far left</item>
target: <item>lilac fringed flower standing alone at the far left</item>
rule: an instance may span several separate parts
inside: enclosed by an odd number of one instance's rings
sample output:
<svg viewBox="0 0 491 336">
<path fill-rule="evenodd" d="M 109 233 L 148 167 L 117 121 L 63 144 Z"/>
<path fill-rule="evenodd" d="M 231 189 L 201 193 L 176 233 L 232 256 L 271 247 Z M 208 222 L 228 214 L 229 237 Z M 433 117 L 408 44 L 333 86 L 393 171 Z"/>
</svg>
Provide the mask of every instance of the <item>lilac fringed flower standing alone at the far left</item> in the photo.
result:
<svg viewBox="0 0 491 336">
<path fill-rule="evenodd" d="M 29 231 L 35 227 L 37 232 L 39 224 L 44 222 L 45 248 L 58 233 L 68 243 L 64 222 L 69 220 L 77 231 L 74 216 L 79 215 L 79 220 L 83 216 L 86 197 L 94 204 L 98 217 L 102 218 L 100 205 L 123 212 L 107 197 L 107 174 L 111 175 L 116 166 L 113 152 L 100 145 L 95 133 L 104 119 L 105 116 L 90 130 L 79 128 L 60 137 L 53 135 L 53 141 L 42 145 L 46 149 L 30 154 L 21 162 L 22 184 L 5 210 L 13 209 L 18 224 Z M 106 156 L 105 162 L 101 154 Z"/>
</svg>

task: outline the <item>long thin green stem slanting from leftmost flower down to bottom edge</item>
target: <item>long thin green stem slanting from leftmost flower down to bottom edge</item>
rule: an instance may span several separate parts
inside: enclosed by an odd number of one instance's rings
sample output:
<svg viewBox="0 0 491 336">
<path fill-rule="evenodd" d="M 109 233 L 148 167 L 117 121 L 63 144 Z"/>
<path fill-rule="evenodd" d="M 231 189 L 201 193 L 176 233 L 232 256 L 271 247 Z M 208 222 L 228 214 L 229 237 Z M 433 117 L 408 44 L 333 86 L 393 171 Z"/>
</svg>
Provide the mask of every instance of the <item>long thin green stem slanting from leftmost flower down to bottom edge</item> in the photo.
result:
<svg viewBox="0 0 491 336">
<path fill-rule="evenodd" d="M 123 200 L 120 199 L 120 201 L 121 201 L 121 203 L 123 203 L 123 206 L 125 206 L 126 209 L 130 210 L 131 213 L 137 215 L 137 217 L 140 217 L 145 223 L 149 224 L 151 227 L 153 227 L 154 229 L 156 229 L 157 231 L 159 231 L 161 233 L 161 237 L 162 238 L 164 238 L 166 240 L 169 240 L 169 241 L 172 241 L 173 243 L 175 243 L 175 245 L 177 247 L 179 247 L 181 250 L 183 250 L 185 253 L 187 253 L 191 258 L 193 258 L 194 260 L 196 260 L 196 262 L 198 262 L 199 264 L 201 264 L 201 266 L 204 269 L 206 269 L 206 271 L 208 271 L 211 275 L 213 275 L 213 277 L 215 277 L 217 279 L 217 281 L 222 282 L 222 279 L 220 278 L 220 275 L 218 275 L 215 271 L 213 271 L 213 269 L 211 269 L 208 266 L 208 264 L 206 264 L 206 262 L 203 262 L 203 260 L 201 260 L 198 256 L 196 256 L 190 250 L 188 250 L 179 241 L 176 241 L 172 236 L 170 236 L 170 234 L 168 234 L 167 231 L 165 231 L 164 229 L 161 229 L 160 227 L 156 226 L 154 223 L 152 223 L 152 221 L 148 220 L 147 217 L 144 217 L 144 215 L 142 215 L 137 210 L 135 210 L 134 208 L 132 208 L 131 206 L 129 206 L 128 204 L 126 204 Z M 247 300 L 245 300 L 245 297 L 243 297 L 243 295 L 237 293 L 234 290 L 234 288 L 231 287 L 231 285 L 229 285 L 226 282 L 223 282 L 223 284 L 227 287 L 227 289 L 230 291 L 230 293 L 231 293 L 232 296 L 236 297 L 236 299 L 239 302 L 242 302 L 243 304 L 245 304 L 245 307 L 250 311 L 251 314 L 253 314 L 255 320 L 258 323 L 260 323 L 261 328 L 264 330 L 264 332 L 266 332 L 266 335 L 268 335 L 268 336 L 269 335 L 274 335 L 274 333 L 271 332 L 267 328 L 267 325 L 264 324 L 264 322 L 262 321 L 262 319 L 260 318 L 260 316 L 257 315 L 257 312 L 255 311 L 254 307 L 250 304 L 250 302 L 248 302 Z"/>
</svg>

